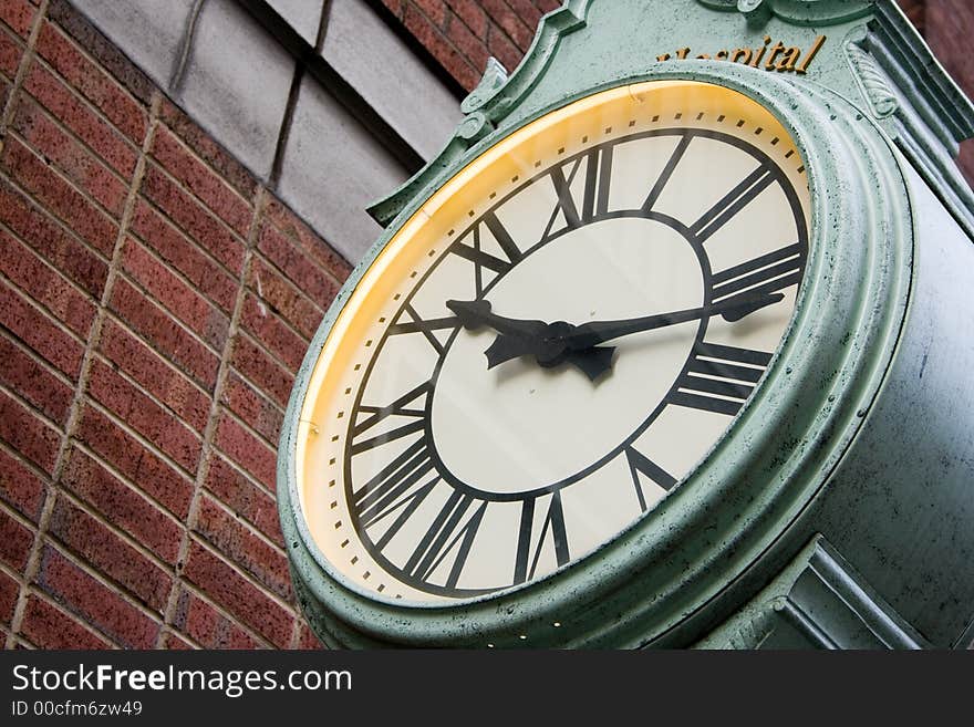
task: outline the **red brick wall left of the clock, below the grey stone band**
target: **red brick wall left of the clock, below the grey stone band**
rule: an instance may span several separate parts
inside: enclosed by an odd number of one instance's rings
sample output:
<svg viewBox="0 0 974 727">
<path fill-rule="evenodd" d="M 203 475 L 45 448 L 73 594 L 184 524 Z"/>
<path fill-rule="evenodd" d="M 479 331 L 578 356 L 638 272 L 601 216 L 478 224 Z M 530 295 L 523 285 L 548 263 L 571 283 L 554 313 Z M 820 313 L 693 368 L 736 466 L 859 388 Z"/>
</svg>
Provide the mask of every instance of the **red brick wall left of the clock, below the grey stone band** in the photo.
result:
<svg viewBox="0 0 974 727">
<path fill-rule="evenodd" d="M 60 1 L 0 0 L 8 647 L 293 647 L 274 447 L 349 266 Z"/>
</svg>

